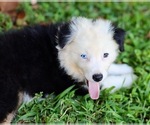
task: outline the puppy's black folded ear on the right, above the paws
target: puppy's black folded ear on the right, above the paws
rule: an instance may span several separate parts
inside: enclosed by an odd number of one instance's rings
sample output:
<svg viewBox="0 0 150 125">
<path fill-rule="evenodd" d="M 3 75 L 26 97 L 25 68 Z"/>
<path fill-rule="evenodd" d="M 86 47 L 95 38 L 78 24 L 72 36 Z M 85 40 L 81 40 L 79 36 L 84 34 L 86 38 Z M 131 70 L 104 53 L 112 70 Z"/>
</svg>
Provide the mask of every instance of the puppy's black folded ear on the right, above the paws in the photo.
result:
<svg viewBox="0 0 150 125">
<path fill-rule="evenodd" d="M 125 31 L 121 28 L 114 28 L 114 39 L 119 45 L 119 50 L 124 51 L 124 39 L 125 39 Z"/>
</svg>

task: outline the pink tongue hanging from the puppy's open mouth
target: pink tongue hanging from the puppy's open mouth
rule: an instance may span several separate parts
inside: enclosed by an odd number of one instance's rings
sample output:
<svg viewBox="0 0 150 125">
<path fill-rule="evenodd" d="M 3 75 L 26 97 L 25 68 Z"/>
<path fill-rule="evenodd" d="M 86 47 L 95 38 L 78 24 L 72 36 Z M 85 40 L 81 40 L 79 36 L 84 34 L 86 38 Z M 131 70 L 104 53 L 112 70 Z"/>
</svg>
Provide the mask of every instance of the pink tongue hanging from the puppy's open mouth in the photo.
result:
<svg viewBox="0 0 150 125">
<path fill-rule="evenodd" d="M 89 94 L 90 97 L 95 100 L 99 98 L 99 92 L 100 92 L 100 85 L 97 82 L 90 82 L 89 83 Z"/>
</svg>

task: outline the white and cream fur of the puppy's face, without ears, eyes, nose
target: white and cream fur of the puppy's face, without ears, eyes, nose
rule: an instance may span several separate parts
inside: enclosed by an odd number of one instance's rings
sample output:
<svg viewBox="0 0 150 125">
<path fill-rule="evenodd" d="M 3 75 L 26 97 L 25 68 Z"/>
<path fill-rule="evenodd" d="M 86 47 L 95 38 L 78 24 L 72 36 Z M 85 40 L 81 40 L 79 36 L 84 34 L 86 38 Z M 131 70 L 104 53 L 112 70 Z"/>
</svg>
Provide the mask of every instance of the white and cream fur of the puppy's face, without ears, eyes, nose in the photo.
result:
<svg viewBox="0 0 150 125">
<path fill-rule="evenodd" d="M 108 20 L 72 19 L 67 45 L 63 49 L 57 47 L 61 67 L 68 75 L 78 81 L 87 79 L 91 82 L 94 74 L 103 74 L 103 79 L 107 77 L 107 70 L 118 55 L 112 29 Z M 104 53 L 109 53 L 109 56 L 103 58 Z M 81 54 L 86 54 L 87 59 L 82 59 Z"/>
</svg>

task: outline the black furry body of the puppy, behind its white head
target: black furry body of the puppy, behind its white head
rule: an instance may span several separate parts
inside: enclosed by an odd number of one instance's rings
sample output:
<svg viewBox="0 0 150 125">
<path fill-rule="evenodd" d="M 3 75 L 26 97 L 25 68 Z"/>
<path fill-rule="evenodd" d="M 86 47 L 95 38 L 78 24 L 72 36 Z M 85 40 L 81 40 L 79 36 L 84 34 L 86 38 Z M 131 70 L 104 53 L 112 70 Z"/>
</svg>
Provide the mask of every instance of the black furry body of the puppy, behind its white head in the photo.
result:
<svg viewBox="0 0 150 125">
<path fill-rule="evenodd" d="M 0 122 L 16 109 L 20 91 L 31 96 L 41 91 L 58 94 L 75 83 L 57 58 L 56 46 L 64 47 L 63 36 L 68 33 L 68 24 L 55 24 L 0 35 Z"/>
</svg>

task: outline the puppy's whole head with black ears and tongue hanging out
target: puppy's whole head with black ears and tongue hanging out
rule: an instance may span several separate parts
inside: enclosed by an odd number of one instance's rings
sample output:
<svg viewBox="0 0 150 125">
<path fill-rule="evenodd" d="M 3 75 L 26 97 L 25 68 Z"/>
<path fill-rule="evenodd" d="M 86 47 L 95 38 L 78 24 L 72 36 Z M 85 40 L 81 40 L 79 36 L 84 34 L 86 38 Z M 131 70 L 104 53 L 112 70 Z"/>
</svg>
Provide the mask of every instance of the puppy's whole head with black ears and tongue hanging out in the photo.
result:
<svg viewBox="0 0 150 125">
<path fill-rule="evenodd" d="M 92 99 L 99 97 L 99 85 L 107 69 L 123 51 L 125 32 L 110 21 L 73 18 L 58 32 L 58 58 L 73 79 L 85 81 Z"/>
</svg>

